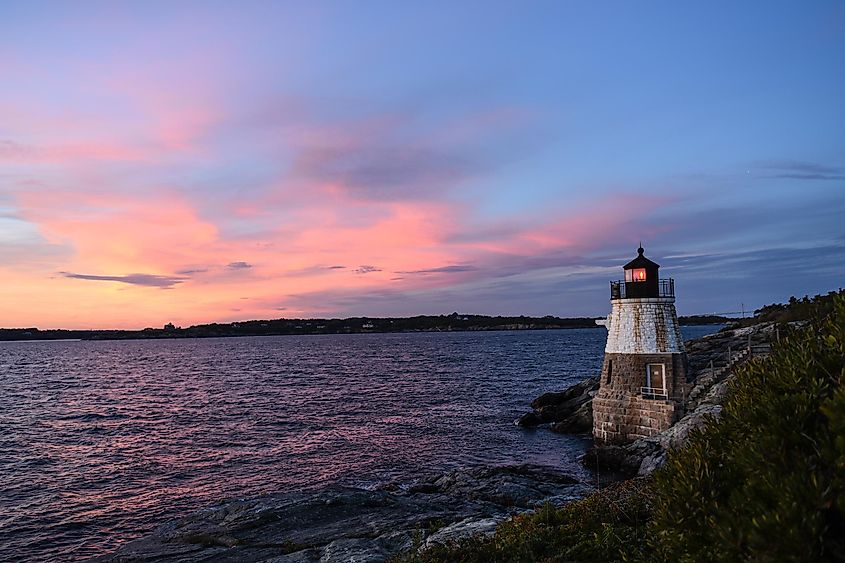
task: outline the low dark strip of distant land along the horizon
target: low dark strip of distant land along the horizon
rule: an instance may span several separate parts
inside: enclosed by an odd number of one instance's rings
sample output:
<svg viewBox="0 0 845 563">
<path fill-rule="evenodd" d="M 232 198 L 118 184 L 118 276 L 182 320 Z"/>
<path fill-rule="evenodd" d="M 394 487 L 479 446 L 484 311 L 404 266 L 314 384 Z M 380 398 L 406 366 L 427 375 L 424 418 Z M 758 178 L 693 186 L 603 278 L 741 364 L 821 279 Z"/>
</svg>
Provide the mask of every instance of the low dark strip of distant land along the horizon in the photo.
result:
<svg viewBox="0 0 845 563">
<path fill-rule="evenodd" d="M 601 317 L 491 317 L 486 315 L 451 315 L 418 317 L 352 317 L 347 319 L 276 319 L 226 324 L 211 323 L 188 328 L 165 325 L 142 330 L 68 330 L 38 328 L 0 329 L 0 341 L 57 340 L 153 340 L 161 338 L 228 338 L 242 336 L 292 336 L 309 334 L 402 334 L 411 332 L 476 332 L 503 330 L 559 330 L 602 328 Z M 679 317 L 681 325 L 728 324 L 735 321 L 719 316 Z"/>
</svg>

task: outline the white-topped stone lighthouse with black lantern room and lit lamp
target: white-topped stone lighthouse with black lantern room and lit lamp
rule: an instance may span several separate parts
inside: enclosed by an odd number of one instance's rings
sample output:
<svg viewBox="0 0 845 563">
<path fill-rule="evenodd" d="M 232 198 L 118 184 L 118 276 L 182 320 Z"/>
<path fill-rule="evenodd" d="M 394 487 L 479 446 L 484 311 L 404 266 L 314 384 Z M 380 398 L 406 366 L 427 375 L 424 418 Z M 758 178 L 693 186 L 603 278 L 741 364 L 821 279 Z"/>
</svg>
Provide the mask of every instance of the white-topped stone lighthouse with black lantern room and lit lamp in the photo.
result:
<svg viewBox="0 0 845 563">
<path fill-rule="evenodd" d="M 593 399 L 593 436 L 624 443 L 669 428 L 681 415 L 687 356 L 675 312 L 675 283 L 637 249 L 625 279 L 610 282 L 611 312 L 599 392 Z"/>
</svg>

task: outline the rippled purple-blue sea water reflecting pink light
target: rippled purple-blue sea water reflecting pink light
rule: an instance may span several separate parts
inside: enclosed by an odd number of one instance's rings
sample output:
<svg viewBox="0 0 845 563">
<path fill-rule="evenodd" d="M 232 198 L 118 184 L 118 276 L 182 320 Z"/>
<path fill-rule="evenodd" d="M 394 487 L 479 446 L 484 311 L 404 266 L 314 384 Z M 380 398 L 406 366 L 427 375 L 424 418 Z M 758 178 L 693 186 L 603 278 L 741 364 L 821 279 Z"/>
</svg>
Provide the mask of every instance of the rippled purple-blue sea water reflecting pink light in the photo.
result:
<svg viewBox="0 0 845 563">
<path fill-rule="evenodd" d="M 685 327 L 687 338 L 717 327 Z M 107 553 L 167 519 L 328 484 L 530 462 L 513 421 L 601 367 L 601 329 L 0 342 L 0 561 Z"/>
</svg>

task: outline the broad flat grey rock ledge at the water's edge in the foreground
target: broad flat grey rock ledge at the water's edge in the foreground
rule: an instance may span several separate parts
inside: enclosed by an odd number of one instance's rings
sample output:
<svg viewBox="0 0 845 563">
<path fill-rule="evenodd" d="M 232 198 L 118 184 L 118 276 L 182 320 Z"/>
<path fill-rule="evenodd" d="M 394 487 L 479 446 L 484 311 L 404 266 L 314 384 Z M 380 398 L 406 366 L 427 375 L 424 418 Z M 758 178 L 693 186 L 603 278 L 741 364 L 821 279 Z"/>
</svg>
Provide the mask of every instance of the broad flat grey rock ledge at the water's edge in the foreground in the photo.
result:
<svg viewBox="0 0 845 563">
<path fill-rule="evenodd" d="M 160 526 L 98 562 L 380 562 L 474 534 L 590 487 L 533 465 L 457 469 L 410 486 L 335 487 L 234 500 Z"/>
</svg>

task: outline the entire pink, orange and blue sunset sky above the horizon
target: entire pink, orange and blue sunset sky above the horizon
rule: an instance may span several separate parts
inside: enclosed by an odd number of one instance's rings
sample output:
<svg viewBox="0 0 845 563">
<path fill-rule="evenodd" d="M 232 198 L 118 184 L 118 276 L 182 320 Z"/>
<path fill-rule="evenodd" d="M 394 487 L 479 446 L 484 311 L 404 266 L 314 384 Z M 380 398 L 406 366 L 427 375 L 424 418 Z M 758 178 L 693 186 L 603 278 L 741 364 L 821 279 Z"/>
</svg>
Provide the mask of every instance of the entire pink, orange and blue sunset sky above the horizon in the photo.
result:
<svg viewBox="0 0 845 563">
<path fill-rule="evenodd" d="M 845 3 L 0 3 L 0 326 L 845 286 Z"/>
</svg>

